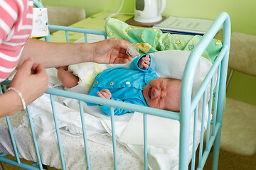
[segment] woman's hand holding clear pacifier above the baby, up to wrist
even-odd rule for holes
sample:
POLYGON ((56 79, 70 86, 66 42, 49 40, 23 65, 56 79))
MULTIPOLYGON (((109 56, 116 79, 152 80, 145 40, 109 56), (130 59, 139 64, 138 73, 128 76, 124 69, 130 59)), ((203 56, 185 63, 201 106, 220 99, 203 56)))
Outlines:
POLYGON ((127 63, 132 57, 127 55, 127 47, 130 42, 118 38, 110 38, 95 42, 93 45, 92 62, 97 63, 127 63))

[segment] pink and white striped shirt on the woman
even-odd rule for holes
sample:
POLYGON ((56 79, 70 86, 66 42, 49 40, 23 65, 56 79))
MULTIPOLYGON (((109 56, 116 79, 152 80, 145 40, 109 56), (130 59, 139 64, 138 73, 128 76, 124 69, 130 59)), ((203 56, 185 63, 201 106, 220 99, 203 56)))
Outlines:
POLYGON ((0 82, 16 68, 32 22, 33 0, 0 0, 0 82))

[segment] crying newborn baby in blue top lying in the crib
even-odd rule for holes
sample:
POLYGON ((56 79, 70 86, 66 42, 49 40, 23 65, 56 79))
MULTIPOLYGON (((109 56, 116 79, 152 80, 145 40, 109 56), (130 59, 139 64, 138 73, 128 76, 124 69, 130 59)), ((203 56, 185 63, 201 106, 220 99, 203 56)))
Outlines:
MULTIPOLYGON (((178 112, 181 80, 158 77, 150 66, 151 57, 146 54, 134 59, 130 69, 124 67, 105 69, 95 78, 89 95, 178 112)), ((68 88, 76 86, 79 80, 74 74, 66 72, 65 67, 58 68, 58 78, 68 88)), ((87 102, 87 105, 96 104, 87 102)), ((99 107, 110 115, 109 106, 99 105, 99 107)), ((134 112, 114 108, 114 115, 124 113, 134 112)))

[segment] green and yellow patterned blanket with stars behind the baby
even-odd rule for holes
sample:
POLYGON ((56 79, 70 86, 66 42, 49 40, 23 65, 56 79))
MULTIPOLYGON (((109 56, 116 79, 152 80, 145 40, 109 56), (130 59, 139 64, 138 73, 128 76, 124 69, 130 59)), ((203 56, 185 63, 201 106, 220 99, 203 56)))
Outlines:
MULTIPOLYGON (((136 43, 141 54, 164 50, 191 51, 202 38, 201 35, 162 33, 156 28, 132 28, 127 23, 114 18, 110 18, 105 23, 105 31, 110 38, 120 38, 136 43)), ((221 40, 213 39, 202 56, 210 62, 214 62, 222 47, 221 40)))

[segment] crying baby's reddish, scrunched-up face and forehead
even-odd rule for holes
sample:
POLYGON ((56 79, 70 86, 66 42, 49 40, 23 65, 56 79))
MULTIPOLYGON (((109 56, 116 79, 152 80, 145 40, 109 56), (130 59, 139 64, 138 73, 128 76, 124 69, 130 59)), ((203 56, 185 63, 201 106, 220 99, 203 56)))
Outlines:
POLYGON ((143 96, 149 107, 168 111, 179 111, 181 80, 159 78, 152 79, 143 89, 143 96))

